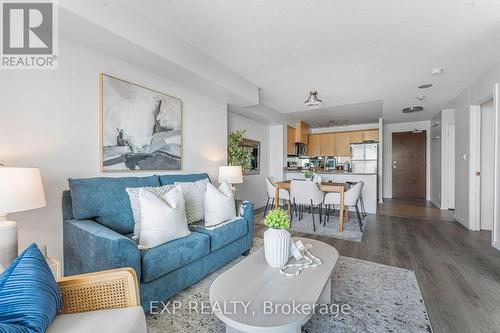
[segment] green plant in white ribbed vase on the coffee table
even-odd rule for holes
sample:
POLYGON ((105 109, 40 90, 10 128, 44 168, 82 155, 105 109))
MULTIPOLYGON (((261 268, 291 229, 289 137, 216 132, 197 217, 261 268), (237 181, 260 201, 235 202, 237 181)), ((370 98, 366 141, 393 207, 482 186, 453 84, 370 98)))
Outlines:
POLYGON ((282 208, 273 209, 264 219, 269 228, 264 232, 264 253, 269 266, 283 267, 290 254, 291 235, 286 230, 290 227, 288 213, 282 208))

